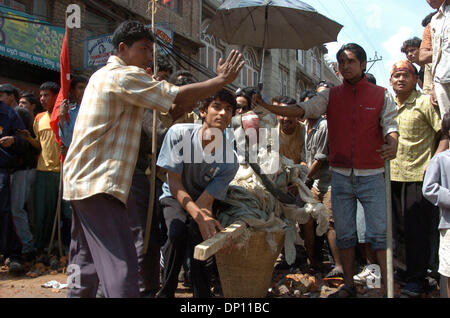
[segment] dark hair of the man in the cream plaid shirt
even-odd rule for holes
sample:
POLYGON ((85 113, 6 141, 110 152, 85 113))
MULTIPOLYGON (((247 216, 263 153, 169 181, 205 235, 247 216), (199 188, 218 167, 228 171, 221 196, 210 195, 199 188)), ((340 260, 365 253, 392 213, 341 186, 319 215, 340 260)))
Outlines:
POLYGON ((120 42, 132 46, 134 42, 148 39, 155 42, 152 31, 139 21, 127 20, 122 22, 114 31, 112 44, 115 50, 119 48, 120 42))

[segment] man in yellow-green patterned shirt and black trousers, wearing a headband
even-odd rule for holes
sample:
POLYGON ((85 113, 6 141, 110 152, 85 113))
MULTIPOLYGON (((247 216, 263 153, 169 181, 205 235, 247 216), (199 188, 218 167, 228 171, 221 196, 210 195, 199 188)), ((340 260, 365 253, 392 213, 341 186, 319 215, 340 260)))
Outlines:
MULTIPOLYGON (((396 94, 399 127, 397 157, 391 161, 392 211, 396 247, 404 241, 406 286, 402 293, 417 297, 425 291, 430 257, 430 222, 439 211, 422 195, 425 170, 441 129, 430 96, 416 90, 417 69, 410 61, 393 65, 391 85, 396 94)), ((442 135, 436 152, 448 149, 442 135)))

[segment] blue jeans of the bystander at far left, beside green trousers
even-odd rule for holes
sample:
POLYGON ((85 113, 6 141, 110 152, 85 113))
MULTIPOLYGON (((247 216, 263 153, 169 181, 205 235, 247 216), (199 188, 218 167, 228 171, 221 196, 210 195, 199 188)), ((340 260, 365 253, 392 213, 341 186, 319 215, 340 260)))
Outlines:
POLYGON ((22 241, 22 253, 30 253, 35 250, 33 235, 28 224, 28 212, 25 210, 25 203, 35 178, 35 169, 18 170, 11 176, 11 211, 17 234, 22 241))

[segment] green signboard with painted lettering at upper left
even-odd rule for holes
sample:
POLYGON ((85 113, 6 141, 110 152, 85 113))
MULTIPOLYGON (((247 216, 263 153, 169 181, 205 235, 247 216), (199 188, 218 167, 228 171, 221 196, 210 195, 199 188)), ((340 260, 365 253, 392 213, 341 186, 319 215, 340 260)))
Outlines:
POLYGON ((0 55, 59 72, 64 32, 64 28, 0 6, 0 55))

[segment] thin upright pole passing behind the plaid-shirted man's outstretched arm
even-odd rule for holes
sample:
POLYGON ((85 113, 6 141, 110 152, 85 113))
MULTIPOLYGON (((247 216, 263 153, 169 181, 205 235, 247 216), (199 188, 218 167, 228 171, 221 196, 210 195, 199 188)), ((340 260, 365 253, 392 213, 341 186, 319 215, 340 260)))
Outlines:
MULTIPOLYGON (((155 14, 156 14, 156 1, 152 0, 152 32, 155 35, 155 41, 153 42, 153 76, 158 73, 158 62, 156 60, 158 55, 157 38, 155 34, 155 14)), ((152 226, 152 218, 155 205, 155 188, 156 188, 156 109, 153 109, 153 127, 152 127, 152 161, 151 161, 151 175, 150 175, 150 197, 147 210, 147 223, 145 225, 144 236, 144 254, 147 253, 148 244, 150 241, 150 232, 152 226)))

